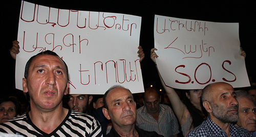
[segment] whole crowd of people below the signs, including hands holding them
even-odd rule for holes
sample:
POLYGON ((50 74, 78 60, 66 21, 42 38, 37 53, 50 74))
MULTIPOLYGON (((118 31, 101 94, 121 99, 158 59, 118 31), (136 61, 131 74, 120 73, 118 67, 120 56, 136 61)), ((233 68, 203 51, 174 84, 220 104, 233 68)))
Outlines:
MULTIPOLYGON (((13 41, 11 56, 19 53, 13 41)), ((138 57, 145 57, 141 46, 138 57)), ((156 48, 151 59, 156 63, 156 48)), ((241 52, 245 57, 245 52, 241 52)), ((157 67, 157 65, 156 65, 157 67)), ((23 136, 255 136, 256 89, 234 90, 224 82, 204 89, 165 93, 154 87, 132 94, 116 85, 104 95, 68 94, 68 66, 47 50, 26 64, 23 92, 29 107, 15 97, 0 100, 0 132, 23 136)))

